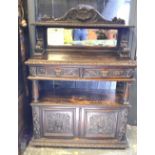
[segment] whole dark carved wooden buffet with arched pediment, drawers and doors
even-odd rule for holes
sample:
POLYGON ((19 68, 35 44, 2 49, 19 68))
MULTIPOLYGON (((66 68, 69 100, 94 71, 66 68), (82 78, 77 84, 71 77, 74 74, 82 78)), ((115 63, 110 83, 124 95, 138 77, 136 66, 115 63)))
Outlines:
POLYGON ((126 148, 129 85, 136 62, 130 58, 132 26, 103 19, 87 5, 70 9, 61 18, 40 18, 36 49, 25 64, 32 81, 34 146, 126 148), (118 31, 117 46, 79 47, 47 45, 48 28, 99 28, 118 31), (48 81, 115 81, 116 90, 55 88, 48 81), (45 89, 43 89, 44 87, 45 89), (48 89, 46 89, 48 87, 48 89))

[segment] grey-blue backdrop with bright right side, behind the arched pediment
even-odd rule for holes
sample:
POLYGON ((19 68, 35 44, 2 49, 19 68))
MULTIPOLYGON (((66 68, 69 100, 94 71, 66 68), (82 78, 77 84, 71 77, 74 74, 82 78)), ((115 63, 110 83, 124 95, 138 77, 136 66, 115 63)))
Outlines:
POLYGON ((133 0, 36 0, 37 19, 59 18, 69 9, 77 5, 90 5, 94 7, 106 20, 114 17, 124 19, 128 24, 130 6, 133 0))

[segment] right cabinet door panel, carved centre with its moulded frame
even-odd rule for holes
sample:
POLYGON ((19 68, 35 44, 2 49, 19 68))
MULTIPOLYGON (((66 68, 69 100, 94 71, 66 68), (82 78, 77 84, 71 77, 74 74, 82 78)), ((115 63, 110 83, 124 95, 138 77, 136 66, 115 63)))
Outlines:
POLYGON ((85 138, 115 138, 118 110, 84 108, 81 117, 81 136, 85 138))

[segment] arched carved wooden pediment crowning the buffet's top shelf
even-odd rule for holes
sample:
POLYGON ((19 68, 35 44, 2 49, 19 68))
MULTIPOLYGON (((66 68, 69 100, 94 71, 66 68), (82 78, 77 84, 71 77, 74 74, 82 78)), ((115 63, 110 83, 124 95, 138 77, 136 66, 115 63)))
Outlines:
POLYGON ((55 22, 71 22, 71 23, 103 23, 103 24, 125 24, 122 19, 116 17, 112 20, 106 20, 103 16, 89 5, 78 5, 71 8, 64 16, 60 18, 42 17, 44 21, 55 22))

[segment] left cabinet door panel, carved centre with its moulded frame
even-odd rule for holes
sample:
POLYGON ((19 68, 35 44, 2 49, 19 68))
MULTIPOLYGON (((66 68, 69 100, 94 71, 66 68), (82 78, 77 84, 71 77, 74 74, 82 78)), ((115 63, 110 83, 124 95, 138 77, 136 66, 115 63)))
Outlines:
POLYGON ((76 108, 43 108, 43 136, 56 138, 75 137, 78 132, 78 119, 76 118, 76 113, 76 108))

